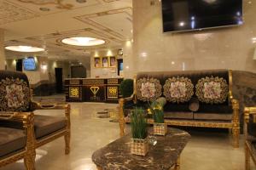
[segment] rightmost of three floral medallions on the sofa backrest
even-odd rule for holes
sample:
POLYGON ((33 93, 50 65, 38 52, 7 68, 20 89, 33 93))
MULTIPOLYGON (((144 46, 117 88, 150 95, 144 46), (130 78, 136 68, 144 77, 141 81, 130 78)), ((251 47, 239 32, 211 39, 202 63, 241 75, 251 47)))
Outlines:
POLYGON ((201 78, 195 88, 198 99, 209 104, 224 103, 229 91, 226 80, 219 77, 201 78))

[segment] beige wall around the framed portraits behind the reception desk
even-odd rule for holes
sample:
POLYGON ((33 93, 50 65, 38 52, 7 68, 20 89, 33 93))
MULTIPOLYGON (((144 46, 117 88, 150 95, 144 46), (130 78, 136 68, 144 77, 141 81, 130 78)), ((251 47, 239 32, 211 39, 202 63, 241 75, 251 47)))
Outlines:
POLYGON ((99 51, 99 52, 91 53, 90 77, 101 77, 101 78, 118 77, 117 67, 95 68, 95 65, 94 65, 95 56, 98 56, 98 57, 118 56, 117 52, 118 50, 99 51))

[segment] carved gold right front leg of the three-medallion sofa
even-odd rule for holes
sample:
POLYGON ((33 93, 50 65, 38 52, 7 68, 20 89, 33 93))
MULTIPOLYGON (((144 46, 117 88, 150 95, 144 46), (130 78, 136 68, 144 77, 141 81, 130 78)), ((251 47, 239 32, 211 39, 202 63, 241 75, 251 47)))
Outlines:
POLYGON ((239 103, 238 100, 232 99, 232 107, 233 107, 233 127, 232 127, 232 134, 233 134, 233 147, 239 147, 239 136, 240 136, 240 122, 239 122, 239 103))

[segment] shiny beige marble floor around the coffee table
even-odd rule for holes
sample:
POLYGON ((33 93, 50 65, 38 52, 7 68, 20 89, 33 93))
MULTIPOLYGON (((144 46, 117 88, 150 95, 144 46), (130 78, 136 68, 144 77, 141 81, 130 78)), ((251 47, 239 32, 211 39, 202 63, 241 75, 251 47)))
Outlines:
MULTIPOLYGON (((45 144, 37 150, 37 170, 96 170, 90 157, 97 150, 119 138, 119 124, 109 118, 98 118, 97 111, 115 109, 115 104, 72 103, 71 153, 64 154, 64 139, 45 144)), ((63 116, 61 111, 36 111, 36 114, 63 116)), ((129 127, 128 127, 129 129, 129 127)), ((233 149, 228 133, 200 132, 189 129, 192 138, 183 150, 182 170, 242 170, 243 140, 233 149)), ((255 167, 254 167, 255 168, 255 167)), ((24 170, 22 161, 1 170, 24 170)), ((139 169, 138 169, 139 170, 139 169)))

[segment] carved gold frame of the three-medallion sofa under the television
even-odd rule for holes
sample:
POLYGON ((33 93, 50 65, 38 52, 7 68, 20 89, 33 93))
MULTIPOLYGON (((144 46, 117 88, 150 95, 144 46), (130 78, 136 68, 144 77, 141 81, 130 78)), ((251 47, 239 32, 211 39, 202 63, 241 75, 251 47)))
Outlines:
MULTIPOLYGON (((127 101, 132 101, 137 103, 137 91, 136 91, 137 77, 134 78, 134 91, 131 97, 119 99, 119 128, 120 136, 125 135, 125 122, 130 122, 129 119, 125 119, 124 115, 124 105, 127 101)), ((240 135, 240 122, 239 122, 239 102, 234 99, 232 95, 232 71, 229 71, 229 100, 230 105, 232 105, 233 116, 230 122, 203 122, 203 121, 188 121, 188 120, 165 120, 167 125, 172 126, 183 126, 183 127, 218 127, 218 128, 228 128, 232 132, 233 147, 239 147, 239 135, 240 135)), ((154 121, 148 119, 148 123, 152 124, 154 121)))

